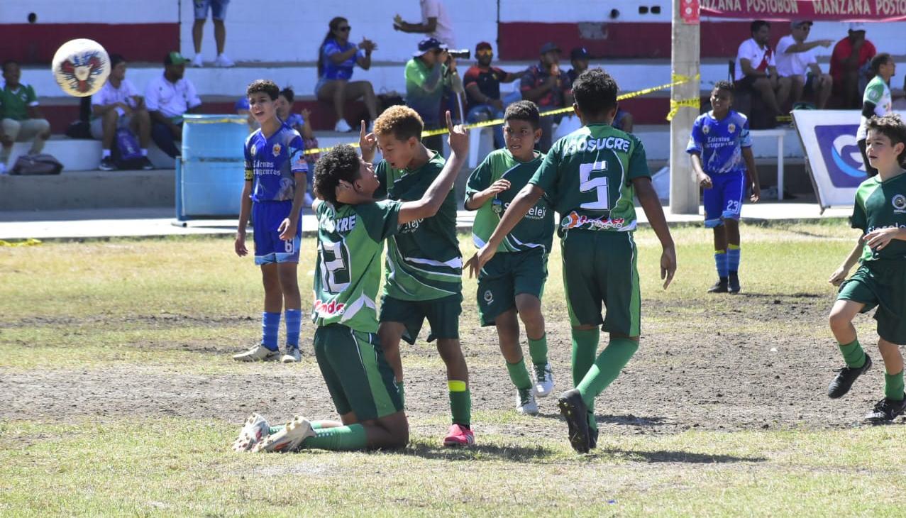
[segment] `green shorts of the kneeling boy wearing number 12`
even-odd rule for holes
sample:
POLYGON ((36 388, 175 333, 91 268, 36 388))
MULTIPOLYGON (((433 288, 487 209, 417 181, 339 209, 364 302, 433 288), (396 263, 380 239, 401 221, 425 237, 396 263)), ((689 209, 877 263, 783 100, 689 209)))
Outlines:
POLYGON ((355 412, 361 422, 402 410, 400 391, 378 335, 342 324, 318 327, 314 357, 341 416, 355 412))

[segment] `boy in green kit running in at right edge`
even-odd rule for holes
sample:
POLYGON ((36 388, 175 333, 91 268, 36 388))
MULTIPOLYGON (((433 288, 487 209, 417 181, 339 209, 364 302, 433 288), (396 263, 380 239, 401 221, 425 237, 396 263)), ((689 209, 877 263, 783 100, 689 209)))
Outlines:
POLYGON ((853 381, 871 369, 872 359, 856 337, 853 318, 877 306, 874 320, 884 359, 884 398, 865 418, 889 422, 906 409, 898 347, 906 344, 906 170, 902 168, 906 125, 898 115, 885 115, 872 117, 866 127, 865 155, 878 174, 856 190, 851 224, 863 233, 830 278, 830 283, 840 286, 840 293, 829 320, 846 366, 831 381, 827 395, 843 397, 853 381), (857 260, 859 268, 843 281, 857 260))

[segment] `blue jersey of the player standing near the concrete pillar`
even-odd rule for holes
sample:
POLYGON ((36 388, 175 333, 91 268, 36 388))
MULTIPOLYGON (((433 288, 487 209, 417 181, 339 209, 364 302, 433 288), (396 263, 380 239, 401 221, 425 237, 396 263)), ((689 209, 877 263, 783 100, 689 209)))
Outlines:
POLYGON ((746 172, 742 149, 752 147, 748 134, 748 119, 742 113, 729 110, 723 120, 714 118, 713 111, 699 115, 692 124, 692 134, 686 152, 701 156, 701 168, 708 175, 746 172))

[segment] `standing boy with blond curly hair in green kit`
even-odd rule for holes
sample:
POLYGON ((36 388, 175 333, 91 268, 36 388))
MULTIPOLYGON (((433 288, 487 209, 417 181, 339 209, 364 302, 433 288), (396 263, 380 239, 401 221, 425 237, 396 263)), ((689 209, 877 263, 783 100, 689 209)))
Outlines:
MULTIPOLYGON (((444 168, 439 152, 421 143, 424 124, 406 106, 392 106, 374 121, 374 132, 361 125, 361 158, 371 161, 377 146, 383 160, 375 168, 381 187, 376 197, 413 201, 422 197, 444 168)), ((471 430, 472 397, 468 368, 459 346, 462 306, 462 256, 456 235, 456 193, 450 189, 436 216, 410 221, 387 241, 386 282, 381 295, 378 335, 387 361, 403 393, 400 339, 414 344, 427 319, 428 341, 438 340, 447 366, 452 425, 445 446, 475 443, 471 430)))

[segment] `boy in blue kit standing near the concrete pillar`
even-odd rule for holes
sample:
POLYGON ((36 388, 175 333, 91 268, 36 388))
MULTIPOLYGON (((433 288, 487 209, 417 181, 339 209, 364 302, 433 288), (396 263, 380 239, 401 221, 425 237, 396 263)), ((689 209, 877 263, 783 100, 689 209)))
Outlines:
POLYGON ((711 91, 711 110, 695 120, 686 147, 699 185, 705 188, 705 226, 714 229, 718 282, 708 293, 739 293, 739 213, 747 183, 752 187, 750 199, 757 202, 761 197, 748 119, 730 110, 732 105, 733 86, 718 81, 711 91))

